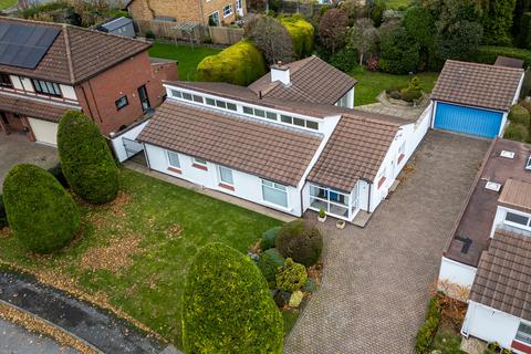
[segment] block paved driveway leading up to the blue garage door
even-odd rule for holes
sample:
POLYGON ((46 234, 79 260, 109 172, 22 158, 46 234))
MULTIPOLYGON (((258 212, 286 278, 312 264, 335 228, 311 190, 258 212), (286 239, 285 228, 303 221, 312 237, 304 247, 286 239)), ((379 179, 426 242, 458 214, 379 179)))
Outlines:
POLYGON ((489 144, 429 132, 410 159, 415 171, 365 229, 326 220, 323 282, 285 353, 412 353, 441 250, 489 144))

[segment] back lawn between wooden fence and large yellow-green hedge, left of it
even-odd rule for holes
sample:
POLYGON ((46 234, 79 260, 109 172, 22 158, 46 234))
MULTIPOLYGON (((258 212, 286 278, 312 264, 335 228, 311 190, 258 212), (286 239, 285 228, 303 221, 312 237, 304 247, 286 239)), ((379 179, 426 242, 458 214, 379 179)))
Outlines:
MULTIPOLYGON (((0 0, 2 1, 2 0, 0 0)), ((175 45, 167 43, 154 43, 149 55, 178 61, 179 80, 194 81, 196 67, 208 55, 219 53, 221 50, 207 46, 175 45)))

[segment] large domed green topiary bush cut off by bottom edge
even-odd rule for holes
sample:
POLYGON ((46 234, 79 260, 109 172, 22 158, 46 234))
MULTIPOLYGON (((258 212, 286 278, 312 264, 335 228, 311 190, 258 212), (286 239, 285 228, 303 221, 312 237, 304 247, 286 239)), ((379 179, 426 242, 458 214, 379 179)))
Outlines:
POLYGON ((183 296, 185 353, 282 353, 282 316, 244 254, 209 243, 196 254, 183 296))

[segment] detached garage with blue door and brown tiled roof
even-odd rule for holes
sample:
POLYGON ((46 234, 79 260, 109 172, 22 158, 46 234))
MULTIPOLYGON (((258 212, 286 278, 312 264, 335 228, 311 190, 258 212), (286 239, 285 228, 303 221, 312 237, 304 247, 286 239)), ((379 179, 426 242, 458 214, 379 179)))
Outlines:
POLYGON ((501 136, 522 82, 522 69, 448 60, 431 93, 431 127, 482 138, 501 136))

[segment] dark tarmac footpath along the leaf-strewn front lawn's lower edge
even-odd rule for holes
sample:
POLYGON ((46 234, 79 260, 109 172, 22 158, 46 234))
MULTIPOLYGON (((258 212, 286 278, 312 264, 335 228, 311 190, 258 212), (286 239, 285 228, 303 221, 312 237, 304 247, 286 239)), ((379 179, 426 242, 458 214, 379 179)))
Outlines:
POLYGON ((104 353, 159 353, 163 345, 102 309, 0 270, 0 299, 48 320, 104 353))

